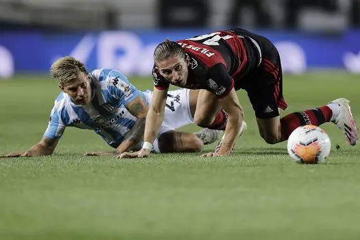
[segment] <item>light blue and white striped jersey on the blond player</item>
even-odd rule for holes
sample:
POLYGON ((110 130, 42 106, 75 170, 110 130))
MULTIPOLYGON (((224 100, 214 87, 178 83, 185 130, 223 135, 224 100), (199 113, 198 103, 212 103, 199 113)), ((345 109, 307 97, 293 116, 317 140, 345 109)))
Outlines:
POLYGON ((94 130, 108 145, 117 147, 136 121, 125 105, 145 95, 125 75, 112 69, 95 69, 89 73, 92 82, 91 102, 75 105, 67 93, 60 93, 51 110, 44 134, 59 139, 67 126, 94 130))

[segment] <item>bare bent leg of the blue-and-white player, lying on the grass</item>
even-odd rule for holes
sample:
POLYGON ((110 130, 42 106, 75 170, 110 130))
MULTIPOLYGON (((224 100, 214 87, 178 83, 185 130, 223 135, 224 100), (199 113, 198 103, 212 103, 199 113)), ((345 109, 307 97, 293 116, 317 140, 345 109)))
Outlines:
POLYGON ((202 141, 189 132, 168 131, 158 136, 160 153, 197 152, 202 149, 202 141))

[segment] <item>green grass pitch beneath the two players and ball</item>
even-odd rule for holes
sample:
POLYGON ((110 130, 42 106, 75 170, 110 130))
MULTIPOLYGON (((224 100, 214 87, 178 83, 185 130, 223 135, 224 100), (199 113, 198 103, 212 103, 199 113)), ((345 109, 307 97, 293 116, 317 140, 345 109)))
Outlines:
MULTIPOLYGON (((346 97, 360 119, 359 75, 285 75, 284 88, 283 114, 346 97)), ((44 76, 0 81, 0 154, 39 141, 59 91, 44 76)), ((244 92, 239 99, 248 131, 229 157, 86 157, 110 147, 68 128, 53 156, 0 158, 0 239, 359 239, 359 147, 327 123, 328 162, 292 163, 285 143, 261 139, 244 92)))

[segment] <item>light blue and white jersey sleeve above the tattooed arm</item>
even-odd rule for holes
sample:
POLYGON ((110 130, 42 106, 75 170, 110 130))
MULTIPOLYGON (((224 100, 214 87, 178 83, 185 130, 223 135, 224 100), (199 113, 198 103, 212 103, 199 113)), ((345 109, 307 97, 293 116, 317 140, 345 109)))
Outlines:
MULTIPOLYGON (((104 71, 106 71, 106 69, 104 69, 104 71)), ((123 73, 117 70, 109 71, 106 76, 106 81, 108 91, 112 97, 119 99, 124 105, 136 97, 141 96, 141 92, 130 83, 128 77, 125 77, 123 73)))

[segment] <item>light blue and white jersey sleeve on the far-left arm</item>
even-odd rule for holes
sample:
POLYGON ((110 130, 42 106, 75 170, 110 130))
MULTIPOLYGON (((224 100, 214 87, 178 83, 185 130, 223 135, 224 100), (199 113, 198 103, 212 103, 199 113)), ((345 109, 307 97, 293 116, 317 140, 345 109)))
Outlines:
POLYGON ((51 110, 49 123, 47 125, 44 136, 47 139, 60 139, 60 137, 64 133, 65 127, 66 125, 61 119, 60 112, 58 112, 57 107, 54 106, 51 110))

